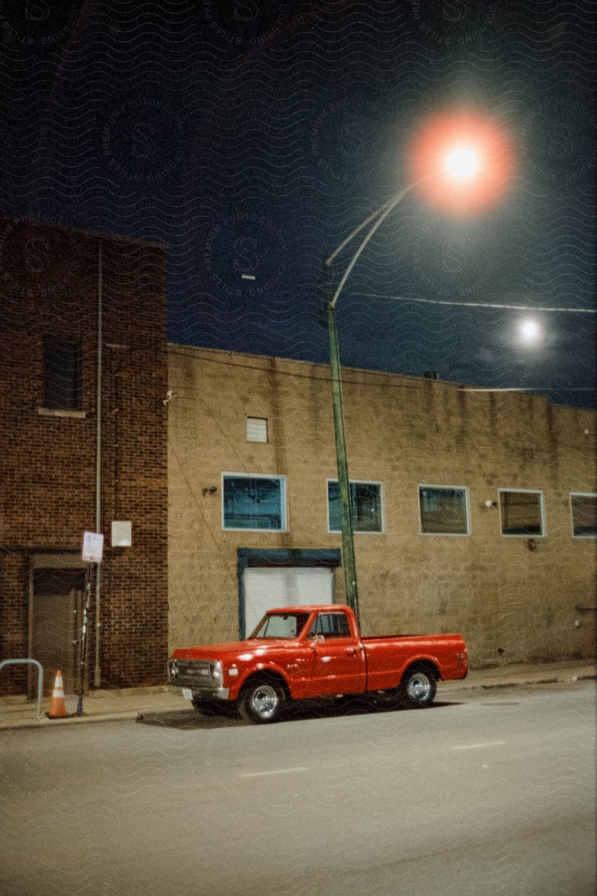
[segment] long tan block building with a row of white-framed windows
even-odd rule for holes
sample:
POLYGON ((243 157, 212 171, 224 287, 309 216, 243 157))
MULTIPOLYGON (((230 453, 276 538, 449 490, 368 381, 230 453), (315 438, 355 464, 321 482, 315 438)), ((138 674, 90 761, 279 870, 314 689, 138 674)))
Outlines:
MULTIPOLYGON (((328 366, 171 345, 168 371, 170 649, 342 602, 328 366)), ((594 412, 343 377, 363 633, 459 631, 474 666, 591 656, 594 412)))

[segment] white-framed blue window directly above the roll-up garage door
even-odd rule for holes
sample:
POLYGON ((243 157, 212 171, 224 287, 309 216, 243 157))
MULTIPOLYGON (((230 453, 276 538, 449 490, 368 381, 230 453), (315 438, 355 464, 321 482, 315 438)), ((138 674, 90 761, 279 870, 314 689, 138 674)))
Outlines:
POLYGON ((286 476, 222 474, 224 529, 286 531, 286 476))

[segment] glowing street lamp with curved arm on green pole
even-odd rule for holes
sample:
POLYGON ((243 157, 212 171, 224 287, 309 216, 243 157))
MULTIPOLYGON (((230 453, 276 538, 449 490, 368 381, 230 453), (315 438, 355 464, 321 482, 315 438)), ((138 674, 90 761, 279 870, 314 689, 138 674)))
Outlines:
POLYGON ((338 493, 342 520, 342 565, 346 603, 359 620, 359 594, 354 558, 354 505, 348 477, 342 377, 338 349, 336 304, 362 250, 380 224, 405 195, 422 186, 422 194, 434 205, 451 214, 482 211, 504 192, 512 177, 513 155, 507 136, 499 124, 470 111, 442 113, 423 122, 414 140, 414 181, 384 202, 343 240, 324 260, 323 293, 328 313, 329 365, 336 436, 338 493), (472 190, 471 187, 474 187, 472 190), (331 265, 338 254, 362 230, 365 237, 345 269, 336 291, 331 265))

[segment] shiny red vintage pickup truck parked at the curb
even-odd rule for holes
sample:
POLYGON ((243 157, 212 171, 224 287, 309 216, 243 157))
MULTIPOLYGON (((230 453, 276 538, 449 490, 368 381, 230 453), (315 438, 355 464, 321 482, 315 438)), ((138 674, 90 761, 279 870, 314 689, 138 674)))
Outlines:
POLYGON ((379 706, 429 706, 436 685, 464 678, 459 634, 362 637, 338 604, 269 610, 246 641, 175 650, 168 682, 212 713, 235 702, 243 719, 273 722, 293 700, 371 694, 379 706))

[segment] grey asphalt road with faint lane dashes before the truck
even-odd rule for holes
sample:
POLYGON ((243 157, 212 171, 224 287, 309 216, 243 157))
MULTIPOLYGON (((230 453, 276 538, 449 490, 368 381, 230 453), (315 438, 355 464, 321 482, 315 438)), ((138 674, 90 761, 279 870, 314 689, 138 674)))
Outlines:
POLYGON ((595 687, 0 732, 3 896, 593 896, 595 687))

